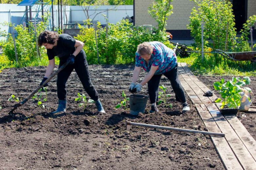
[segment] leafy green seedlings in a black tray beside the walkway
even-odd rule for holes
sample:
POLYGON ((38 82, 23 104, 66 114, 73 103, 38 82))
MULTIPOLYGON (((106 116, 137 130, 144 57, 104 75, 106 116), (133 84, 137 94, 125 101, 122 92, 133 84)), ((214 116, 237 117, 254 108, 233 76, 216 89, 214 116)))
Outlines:
MULTIPOLYGON (((232 77, 232 80, 225 82, 224 78, 221 81, 213 83, 214 89, 219 91, 221 98, 215 100, 216 103, 222 101, 220 105, 220 112, 222 114, 236 114, 241 105, 241 93, 244 90, 251 92, 251 89, 244 87, 250 83, 249 77, 232 77)), ((248 96, 248 101, 251 101, 248 96)))

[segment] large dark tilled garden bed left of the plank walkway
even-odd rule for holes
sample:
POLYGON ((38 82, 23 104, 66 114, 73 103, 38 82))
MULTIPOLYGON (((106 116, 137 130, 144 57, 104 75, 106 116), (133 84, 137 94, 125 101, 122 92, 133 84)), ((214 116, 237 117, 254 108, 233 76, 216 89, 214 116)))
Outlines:
MULTIPOLYGON (((145 127, 126 131, 127 119, 206 130, 189 99, 191 111, 181 113, 181 105, 174 100, 170 83, 164 76, 161 84, 172 95, 168 103, 172 103, 173 108, 160 105, 159 113, 149 113, 148 101, 145 113, 135 117, 124 108, 114 109, 122 99, 122 91, 129 96, 133 66, 90 65, 89 69, 106 114, 99 114, 94 104, 87 104, 84 111, 78 108, 77 93, 86 92, 73 72, 67 83, 66 114, 48 114, 57 107, 54 77, 49 83, 47 101, 43 102, 45 109, 30 99, 15 110, 12 117, 8 112, 17 102, 7 101, 8 98, 13 94, 25 99, 41 82, 46 67, 2 71, 0 169, 224 169, 209 136, 145 127)), ((147 94, 146 90, 146 86, 143 87, 142 93, 147 94)), ((249 114, 246 115, 243 123, 249 119, 249 114)))

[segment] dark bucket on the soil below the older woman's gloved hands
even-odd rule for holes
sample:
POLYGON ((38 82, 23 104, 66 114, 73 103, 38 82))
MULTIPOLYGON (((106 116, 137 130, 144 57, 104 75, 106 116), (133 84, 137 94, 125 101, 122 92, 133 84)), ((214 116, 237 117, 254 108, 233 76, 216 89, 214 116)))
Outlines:
POLYGON ((138 115, 139 112, 144 113, 148 96, 140 94, 130 95, 130 114, 138 115))

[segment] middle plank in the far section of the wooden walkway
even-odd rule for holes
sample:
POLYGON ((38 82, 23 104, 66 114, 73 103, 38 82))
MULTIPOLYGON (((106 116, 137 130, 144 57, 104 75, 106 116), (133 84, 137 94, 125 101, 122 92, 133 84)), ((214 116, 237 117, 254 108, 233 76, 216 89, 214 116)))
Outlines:
POLYGON ((183 79, 187 82, 187 84, 191 87, 191 89, 196 93, 196 95, 199 97, 199 99, 203 103, 211 103, 212 101, 208 98, 203 96, 204 92, 190 79, 190 77, 187 75, 185 70, 182 68, 180 63, 178 64, 178 70, 183 79))

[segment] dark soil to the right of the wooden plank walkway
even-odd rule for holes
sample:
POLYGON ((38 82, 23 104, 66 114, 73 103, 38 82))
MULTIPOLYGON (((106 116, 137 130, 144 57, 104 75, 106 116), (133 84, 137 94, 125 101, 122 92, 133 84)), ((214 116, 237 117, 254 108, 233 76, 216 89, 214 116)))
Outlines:
MULTIPOLYGON (((232 76, 198 76, 198 79, 202 81, 209 89, 214 90, 213 83, 220 81, 222 78, 225 80, 232 80, 232 76)), ((252 92, 256 93, 256 77, 250 77, 251 82, 245 87, 251 88, 252 92)), ((214 92, 218 97, 221 97, 218 92, 214 92)), ((251 106, 256 106, 256 100, 254 99, 251 106)), ((256 140, 256 113, 248 113, 245 111, 238 111, 237 117, 246 127, 251 136, 256 140), (242 115, 246 117, 243 117, 242 115)))

